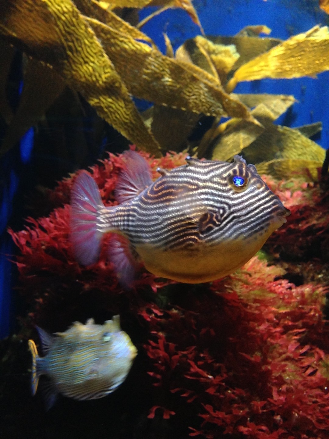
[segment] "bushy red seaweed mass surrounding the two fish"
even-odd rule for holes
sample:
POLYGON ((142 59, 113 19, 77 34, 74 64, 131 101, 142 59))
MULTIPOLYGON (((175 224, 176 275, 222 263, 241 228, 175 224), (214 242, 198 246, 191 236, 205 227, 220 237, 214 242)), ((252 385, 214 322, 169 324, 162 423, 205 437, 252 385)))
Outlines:
MULTIPOLYGON (((185 162, 183 154, 143 155, 154 178, 157 166, 185 162)), ((122 166, 121 156, 110 155, 92 168, 106 205, 116 203, 122 166)), ((104 436, 105 428, 112 438, 327 438, 329 331, 321 270, 329 199, 318 185, 266 177, 291 216, 259 257, 231 276, 186 285, 141 267, 134 288, 124 291, 106 261, 111 234, 95 265, 81 267, 72 258, 67 203, 74 178, 47 194, 47 207, 54 208, 49 216, 29 219, 24 230, 10 233, 21 251, 16 264, 29 308, 29 316, 21 317, 22 334, 32 323, 60 331, 73 320, 120 314, 139 351, 120 394, 102 402, 105 413, 106 404, 118 406, 118 413, 102 418, 105 427, 93 425, 93 436, 98 429, 104 436), (298 286, 289 279, 297 272, 298 286)), ((103 413, 97 407, 83 417, 103 413)))

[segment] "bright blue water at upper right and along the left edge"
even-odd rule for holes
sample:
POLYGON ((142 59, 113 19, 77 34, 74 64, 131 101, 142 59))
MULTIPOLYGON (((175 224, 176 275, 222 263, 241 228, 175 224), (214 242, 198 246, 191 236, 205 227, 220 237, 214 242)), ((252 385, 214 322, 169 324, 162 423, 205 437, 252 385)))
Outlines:
MULTIPOLYGON (((286 39, 291 35, 305 32, 320 24, 326 25, 327 15, 318 9, 317 0, 195 0, 200 22, 206 35, 232 36, 247 25, 267 25, 272 29, 271 36, 286 39)), ((155 8, 145 8, 140 13, 144 18, 155 8)), ((186 39, 200 35, 185 11, 180 9, 166 11, 154 17, 143 27, 164 52, 163 32, 166 32, 177 49, 186 39)), ((329 136, 329 72, 321 73, 318 79, 301 78, 290 80, 261 80, 240 83, 236 93, 293 94, 298 103, 293 105, 287 115, 281 116, 277 123, 287 126, 301 126, 321 121, 323 130, 317 138, 323 148, 328 148, 329 136)), ((18 98, 19 98, 18 90, 18 98)), ((4 133, 0 132, 0 136, 4 133)), ((16 281, 15 269, 10 262, 14 245, 7 234, 6 227, 13 212, 14 197, 23 197, 26 188, 22 187, 24 175, 31 169, 33 148, 33 129, 21 139, 17 148, 0 159, 0 338, 6 337, 14 326, 13 284, 16 281)))

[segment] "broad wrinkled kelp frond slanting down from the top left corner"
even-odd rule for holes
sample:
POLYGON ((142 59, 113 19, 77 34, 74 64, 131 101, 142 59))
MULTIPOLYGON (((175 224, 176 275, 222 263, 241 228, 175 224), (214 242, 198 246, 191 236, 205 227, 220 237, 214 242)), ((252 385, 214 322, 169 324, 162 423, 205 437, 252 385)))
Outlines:
POLYGON ((0 32, 49 62, 98 114, 144 150, 159 146, 86 19, 70 0, 4 0, 0 32))

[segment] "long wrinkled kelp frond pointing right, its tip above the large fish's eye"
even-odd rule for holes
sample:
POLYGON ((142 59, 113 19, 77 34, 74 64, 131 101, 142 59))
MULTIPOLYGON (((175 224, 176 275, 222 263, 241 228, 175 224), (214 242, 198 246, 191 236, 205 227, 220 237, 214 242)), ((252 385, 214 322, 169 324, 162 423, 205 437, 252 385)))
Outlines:
POLYGON ((97 20, 87 18, 87 22, 134 96, 198 114, 222 115, 225 111, 230 116, 253 120, 247 107, 225 93, 204 70, 168 58, 97 20))

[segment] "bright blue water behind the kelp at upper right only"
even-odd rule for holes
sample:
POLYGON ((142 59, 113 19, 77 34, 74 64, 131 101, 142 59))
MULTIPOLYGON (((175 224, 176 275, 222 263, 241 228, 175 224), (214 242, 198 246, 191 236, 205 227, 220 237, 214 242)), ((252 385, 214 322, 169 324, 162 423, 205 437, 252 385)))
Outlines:
MULTIPOLYGON (((195 0, 200 22, 206 35, 232 36, 247 25, 266 25, 272 32, 269 36, 286 40, 292 35, 306 32, 315 25, 328 25, 329 18, 318 7, 318 0, 195 0)), ((144 18, 155 8, 145 8, 144 18)), ((161 51, 165 50, 162 32, 168 34, 175 49, 186 39, 200 35, 186 12, 176 9, 165 11, 154 17, 143 27, 161 51)), ((318 79, 263 79, 238 84, 235 93, 293 94, 297 103, 287 115, 276 123, 296 127, 321 121, 321 138, 317 141, 325 149, 329 146, 329 72, 318 75, 318 79)))

